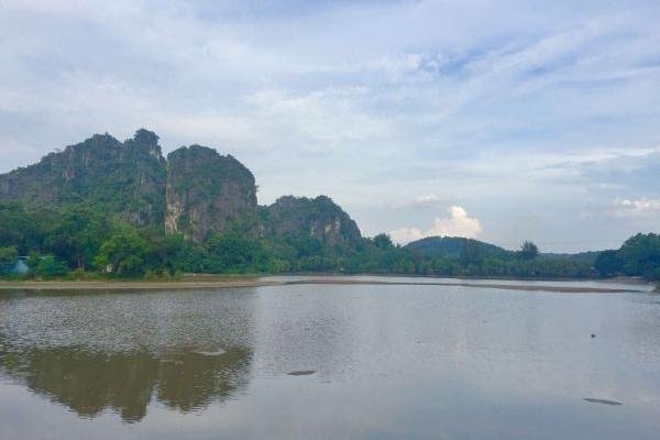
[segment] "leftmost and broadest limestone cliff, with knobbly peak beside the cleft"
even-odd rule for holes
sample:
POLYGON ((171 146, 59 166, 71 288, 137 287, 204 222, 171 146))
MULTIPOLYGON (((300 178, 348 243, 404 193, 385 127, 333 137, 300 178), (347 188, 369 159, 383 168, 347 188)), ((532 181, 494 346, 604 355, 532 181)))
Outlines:
POLYGON ((146 130, 125 142, 95 134, 35 165, 0 175, 2 200, 30 208, 89 204, 136 226, 162 223, 164 189, 158 136, 146 130))

